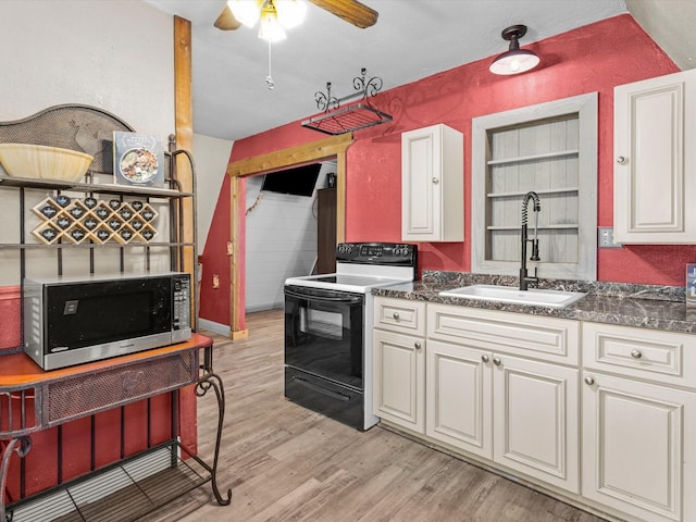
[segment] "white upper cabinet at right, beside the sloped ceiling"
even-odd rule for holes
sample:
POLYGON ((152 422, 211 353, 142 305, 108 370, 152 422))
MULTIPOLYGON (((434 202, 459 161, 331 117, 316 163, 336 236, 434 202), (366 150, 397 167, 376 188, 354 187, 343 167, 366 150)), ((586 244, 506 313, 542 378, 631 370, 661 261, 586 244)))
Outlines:
POLYGON ((614 240, 696 243, 696 70, 614 88, 614 240))

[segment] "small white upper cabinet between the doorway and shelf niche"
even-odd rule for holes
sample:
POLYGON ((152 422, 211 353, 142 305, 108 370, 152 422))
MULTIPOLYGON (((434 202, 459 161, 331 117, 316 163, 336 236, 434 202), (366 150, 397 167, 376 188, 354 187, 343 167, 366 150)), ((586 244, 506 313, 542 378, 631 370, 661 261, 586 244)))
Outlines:
POLYGON ((464 140, 438 124, 401 135, 401 239, 464 240, 464 140))

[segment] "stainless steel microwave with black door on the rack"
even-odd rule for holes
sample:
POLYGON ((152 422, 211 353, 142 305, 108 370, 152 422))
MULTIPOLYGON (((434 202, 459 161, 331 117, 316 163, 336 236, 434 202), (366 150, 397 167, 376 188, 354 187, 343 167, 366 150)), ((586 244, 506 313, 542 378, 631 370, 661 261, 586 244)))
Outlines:
POLYGON ((24 351, 55 370, 188 340, 189 274, 24 279, 24 351))

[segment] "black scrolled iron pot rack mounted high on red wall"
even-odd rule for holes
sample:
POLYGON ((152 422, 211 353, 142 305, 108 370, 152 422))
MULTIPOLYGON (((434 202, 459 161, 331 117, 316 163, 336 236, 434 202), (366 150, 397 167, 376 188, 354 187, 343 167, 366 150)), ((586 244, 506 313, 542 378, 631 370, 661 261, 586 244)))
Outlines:
POLYGON ((390 114, 375 109, 370 103, 370 98, 382 90, 382 78, 373 76, 366 79, 365 73, 366 70, 363 67, 360 70, 360 76, 352 79, 356 91, 351 95, 343 98, 332 96, 331 82, 326 83, 326 92, 321 90, 314 92, 316 108, 324 113, 304 120, 302 126, 336 136, 390 122, 393 120, 390 114), (358 98, 362 98, 362 100, 358 103, 340 107, 343 102, 358 98))

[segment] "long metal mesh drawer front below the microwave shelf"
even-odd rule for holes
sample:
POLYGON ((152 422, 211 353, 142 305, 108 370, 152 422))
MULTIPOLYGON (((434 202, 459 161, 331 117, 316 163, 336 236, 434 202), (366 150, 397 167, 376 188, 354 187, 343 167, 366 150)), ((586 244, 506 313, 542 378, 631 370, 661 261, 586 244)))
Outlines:
POLYGON ((44 386, 44 425, 61 424, 197 382, 198 350, 119 365, 44 386))

